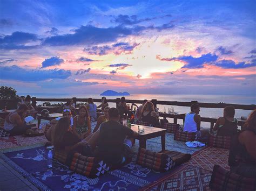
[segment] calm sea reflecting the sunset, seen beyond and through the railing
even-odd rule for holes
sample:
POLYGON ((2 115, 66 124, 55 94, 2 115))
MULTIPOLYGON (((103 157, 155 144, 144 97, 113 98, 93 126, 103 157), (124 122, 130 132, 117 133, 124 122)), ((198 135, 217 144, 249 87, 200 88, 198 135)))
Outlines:
MULTIPOLYGON (((19 96, 26 96, 30 95, 31 97, 37 98, 101 98, 100 95, 90 95, 90 94, 24 94, 18 93, 19 96)), ((116 99, 117 97, 121 96, 105 96, 107 99, 116 99)), ((241 96, 241 95, 166 95, 166 94, 132 94, 130 96, 125 96, 127 100, 152 100, 156 99, 158 101, 179 101, 179 102, 191 102, 191 101, 198 101, 202 103, 233 103, 233 104, 256 104, 256 97, 255 96, 241 96)), ((51 102, 58 103, 58 102, 51 102)), ((43 104, 43 102, 37 102, 37 105, 43 104)), ((95 102, 96 105, 100 103, 95 102)), ((110 107, 116 107, 116 103, 109 103, 110 107)), ((139 105, 139 104, 137 104, 139 105)), ((157 105, 159 111, 168 112, 168 109, 173 107, 174 112, 178 112, 178 114, 185 114, 190 111, 190 107, 181 107, 176 105, 157 105)), ((235 109, 235 117, 248 117, 252 111, 251 110, 241 110, 235 109)), ((219 108, 200 108, 201 117, 222 117, 223 116, 223 109, 219 108)), ((172 119, 169 119, 172 122, 172 119)), ((178 123, 182 123, 178 121, 178 123)), ((210 127, 210 123, 202 122, 201 126, 210 127)))

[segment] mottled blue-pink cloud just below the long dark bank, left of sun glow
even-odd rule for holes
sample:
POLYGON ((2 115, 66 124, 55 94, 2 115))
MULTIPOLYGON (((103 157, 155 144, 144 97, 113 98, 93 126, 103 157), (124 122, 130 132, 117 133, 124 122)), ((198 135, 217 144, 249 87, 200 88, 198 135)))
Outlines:
POLYGON ((111 52, 113 52, 116 55, 119 55, 122 53, 129 54, 138 45, 139 44, 137 43, 133 43, 133 45, 130 45, 129 43, 120 42, 113 45, 93 46, 93 47, 84 48, 84 52, 87 52, 88 54, 93 54, 93 55, 106 55, 111 52))

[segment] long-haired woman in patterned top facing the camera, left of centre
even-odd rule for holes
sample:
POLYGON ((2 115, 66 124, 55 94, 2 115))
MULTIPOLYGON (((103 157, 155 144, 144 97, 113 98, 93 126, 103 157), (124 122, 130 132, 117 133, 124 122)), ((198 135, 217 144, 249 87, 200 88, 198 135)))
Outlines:
POLYGON ((84 105, 79 108, 79 114, 74 117, 73 132, 81 140, 91 134, 91 121, 84 105))

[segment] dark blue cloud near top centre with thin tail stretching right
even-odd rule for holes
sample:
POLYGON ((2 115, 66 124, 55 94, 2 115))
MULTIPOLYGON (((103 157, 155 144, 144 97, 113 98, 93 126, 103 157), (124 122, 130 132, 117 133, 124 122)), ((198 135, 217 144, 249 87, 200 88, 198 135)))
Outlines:
POLYGON ((111 22, 115 22, 121 25, 134 25, 138 23, 142 23, 145 21, 153 20, 153 19, 158 19, 158 18, 164 18, 164 17, 171 17, 171 15, 165 15, 161 17, 153 17, 153 18, 144 18, 144 19, 138 19, 136 15, 128 16, 128 15, 118 15, 118 16, 113 16, 114 19, 111 20, 111 22))

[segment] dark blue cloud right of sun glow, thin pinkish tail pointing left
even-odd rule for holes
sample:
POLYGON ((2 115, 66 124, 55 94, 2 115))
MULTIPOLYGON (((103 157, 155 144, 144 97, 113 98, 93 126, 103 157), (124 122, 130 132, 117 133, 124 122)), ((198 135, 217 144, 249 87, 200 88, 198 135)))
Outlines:
POLYGON ((162 61, 182 61, 185 62, 185 65, 181 68, 203 68, 204 63, 213 62, 218 59, 218 56, 215 54, 203 54, 198 58, 193 56, 179 56, 177 58, 160 58, 160 55, 157 55, 158 60, 162 61))

